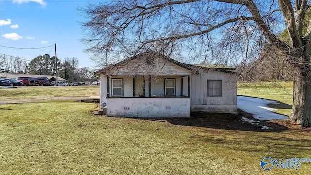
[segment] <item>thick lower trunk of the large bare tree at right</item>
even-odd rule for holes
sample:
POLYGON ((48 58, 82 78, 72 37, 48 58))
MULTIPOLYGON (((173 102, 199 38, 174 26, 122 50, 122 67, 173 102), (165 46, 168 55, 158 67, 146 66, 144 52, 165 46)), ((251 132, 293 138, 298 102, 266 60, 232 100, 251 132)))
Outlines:
POLYGON ((311 65, 300 65, 293 75, 293 106, 289 119, 304 127, 311 127, 311 65))

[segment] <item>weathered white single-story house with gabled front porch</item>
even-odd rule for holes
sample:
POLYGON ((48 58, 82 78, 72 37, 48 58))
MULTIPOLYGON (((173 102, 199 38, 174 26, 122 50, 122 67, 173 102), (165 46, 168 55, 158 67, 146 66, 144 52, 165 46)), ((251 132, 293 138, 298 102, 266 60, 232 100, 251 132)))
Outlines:
POLYGON ((233 68, 178 62, 149 51, 94 73, 107 116, 190 117, 190 111, 236 113, 233 68))

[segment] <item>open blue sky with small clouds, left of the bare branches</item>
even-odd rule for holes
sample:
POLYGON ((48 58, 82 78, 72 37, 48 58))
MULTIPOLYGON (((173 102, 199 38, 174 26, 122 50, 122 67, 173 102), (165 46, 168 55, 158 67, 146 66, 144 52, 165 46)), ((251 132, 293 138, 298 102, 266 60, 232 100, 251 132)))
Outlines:
MULTIPOLYGON (((79 42, 83 31, 78 6, 97 3, 96 0, 0 0, 0 45, 15 48, 41 48, 56 43, 57 58, 76 57, 78 67, 94 68, 85 45, 79 42)), ((12 49, 0 47, 0 53, 32 60, 50 54, 55 49, 12 49)))

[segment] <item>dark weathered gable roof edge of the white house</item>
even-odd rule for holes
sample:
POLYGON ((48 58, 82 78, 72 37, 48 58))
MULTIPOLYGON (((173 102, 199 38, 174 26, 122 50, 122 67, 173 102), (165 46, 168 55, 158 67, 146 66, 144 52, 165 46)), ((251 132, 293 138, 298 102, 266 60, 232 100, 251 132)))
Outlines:
POLYGON ((166 61, 169 61, 175 65, 178 65, 182 68, 185 68, 187 70, 190 70, 192 73, 198 74, 199 70, 216 70, 216 71, 221 71, 221 72, 226 72, 226 73, 235 73, 234 70, 235 68, 232 67, 211 67, 211 64, 199 64, 199 65, 192 65, 192 64, 187 64, 187 63, 181 63, 179 61, 176 61, 168 56, 165 56, 163 54, 157 53, 155 51, 149 50, 147 52, 144 53, 140 53, 138 55, 135 55, 133 57, 127 58, 121 62, 115 63, 115 64, 111 64, 101 70, 95 71, 94 75, 98 76, 101 73, 106 73, 107 70, 111 70, 113 68, 121 68, 122 66, 126 65, 129 61, 135 60, 135 59, 139 59, 141 57, 144 56, 148 56, 148 55, 152 55, 152 56, 157 56, 160 57, 166 61), (208 66, 209 65, 209 66, 208 66))

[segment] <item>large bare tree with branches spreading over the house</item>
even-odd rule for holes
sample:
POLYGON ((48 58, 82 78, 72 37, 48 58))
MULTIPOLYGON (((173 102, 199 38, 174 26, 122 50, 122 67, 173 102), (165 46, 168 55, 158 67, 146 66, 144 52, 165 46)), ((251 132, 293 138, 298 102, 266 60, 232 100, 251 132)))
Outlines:
POLYGON ((309 4, 309 0, 114 0, 78 10, 88 19, 82 23, 85 51, 102 65, 149 49, 166 56, 179 53, 187 63, 247 64, 259 58, 264 45, 273 45, 294 77, 289 118, 311 126, 311 22, 305 18, 309 4), (289 43, 277 37, 284 27, 289 43), (107 60, 108 53, 118 59, 107 60))

